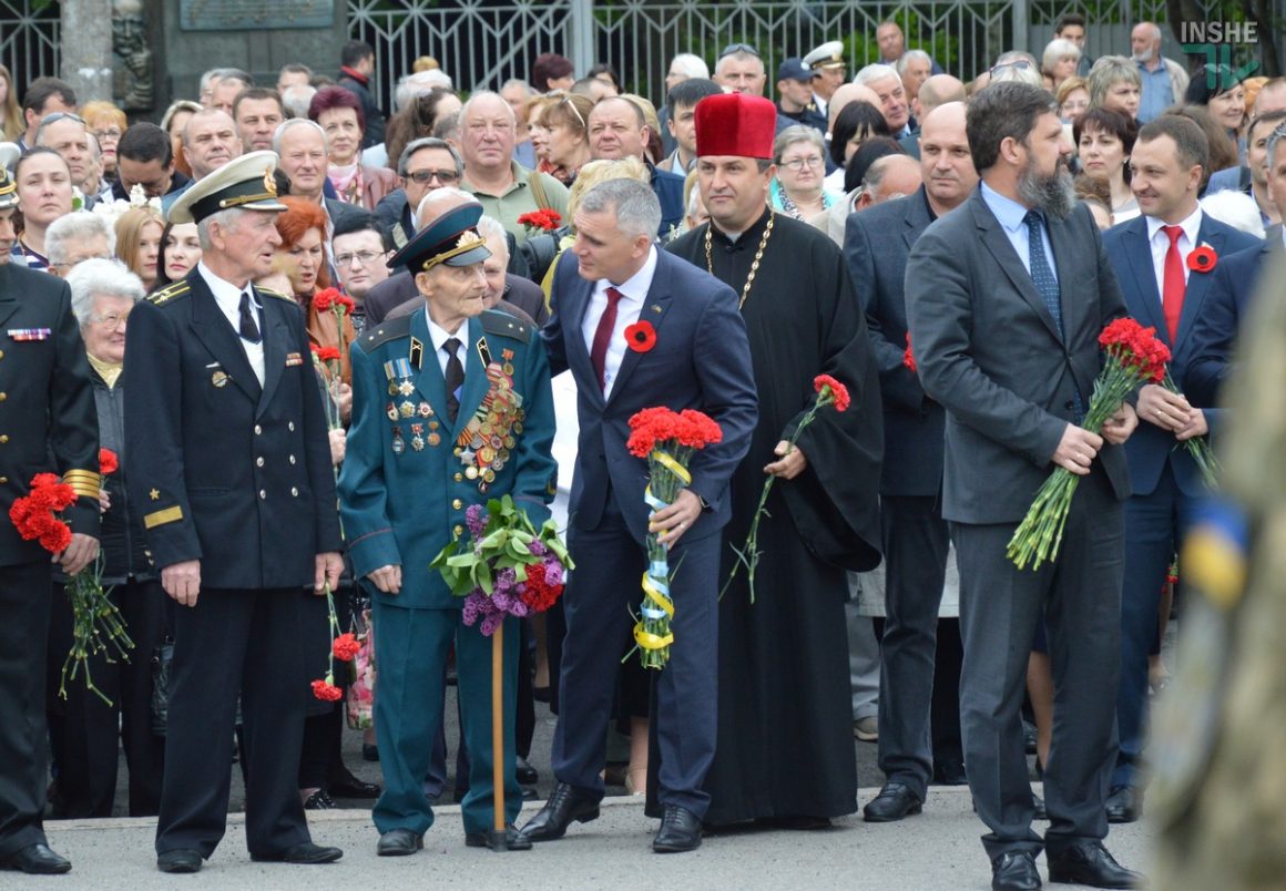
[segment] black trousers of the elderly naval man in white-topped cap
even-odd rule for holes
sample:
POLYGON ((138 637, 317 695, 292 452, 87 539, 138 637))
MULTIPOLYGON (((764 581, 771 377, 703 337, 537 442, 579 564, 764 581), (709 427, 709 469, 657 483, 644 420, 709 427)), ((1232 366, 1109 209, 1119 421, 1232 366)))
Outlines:
POLYGON ((301 589, 202 589, 179 607, 157 852, 210 858, 228 823, 230 750, 240 693, 246 841, 271 856, 310 840, 297 777, 310 678, 327 653, 306 653, 301 589), (311 671, 311 674, 310 674, 311 671))

